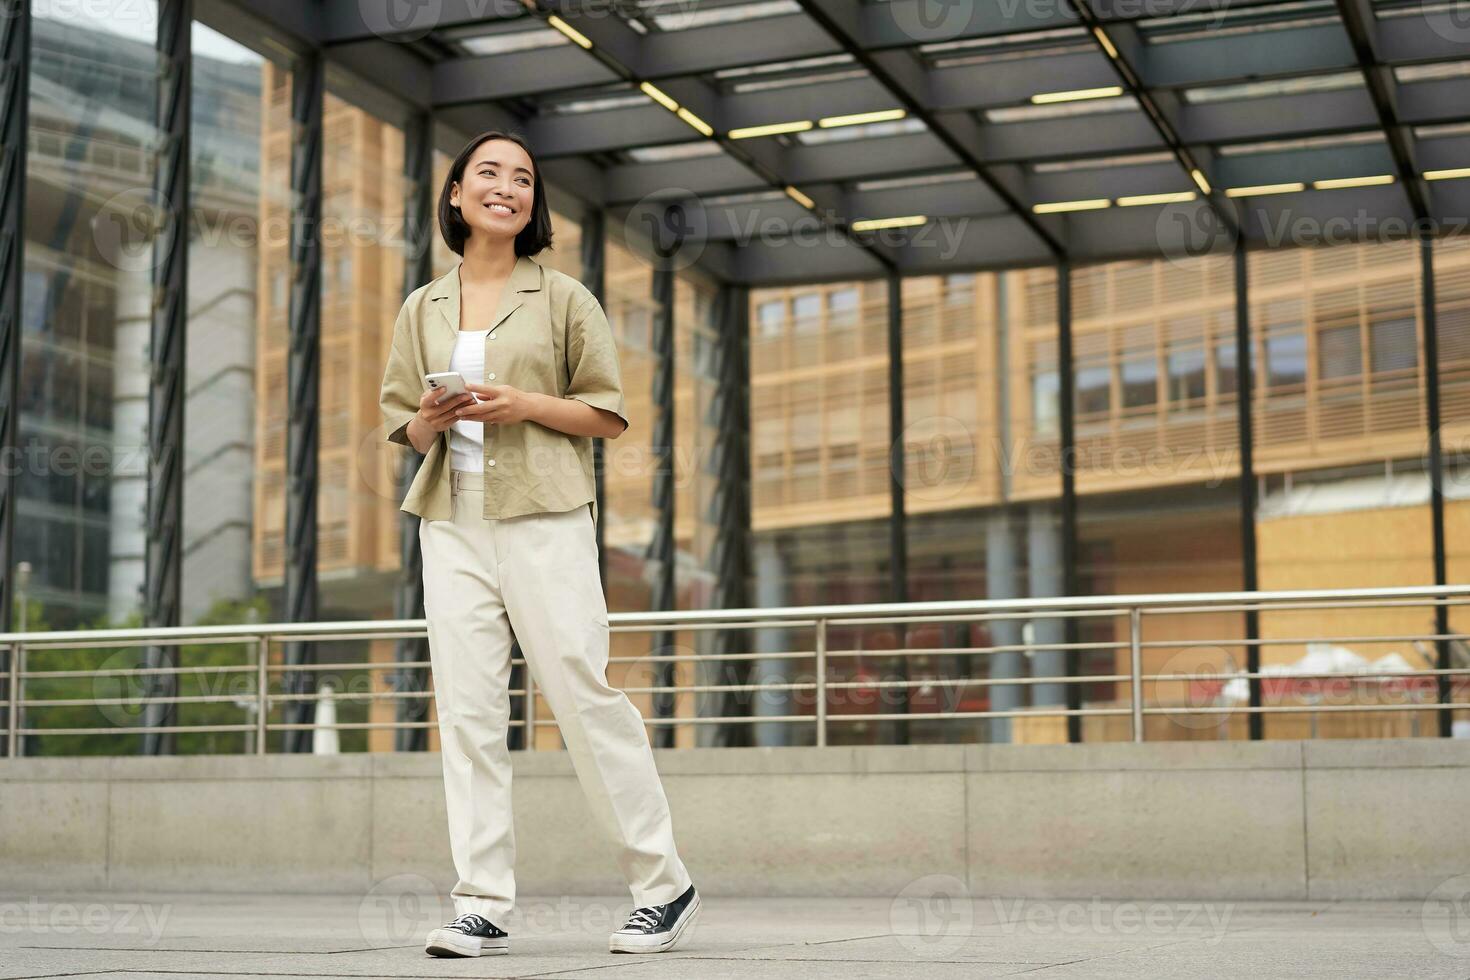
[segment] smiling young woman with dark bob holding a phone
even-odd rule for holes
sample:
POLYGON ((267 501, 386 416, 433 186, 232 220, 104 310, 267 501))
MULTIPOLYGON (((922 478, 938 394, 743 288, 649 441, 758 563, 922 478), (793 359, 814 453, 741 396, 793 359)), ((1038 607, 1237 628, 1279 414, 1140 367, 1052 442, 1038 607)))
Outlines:
POLYGON ((497 923, 516 890, 506 745, 513 636, 601 830, 619 846, 635 909, 609 949, 672 949, 700 898, 675 849, 642 716, 607 683, 591 441, 628 426, 612 328, 587 287, 532 259, 551 244, 551 212, 520 137, 470 140, 450 166, 438 220, 462 262, 403 304, 379 398, 388 441, 425 455, 400 510, 419 517, 459 874, 457 917, 425 949, 509 951, 497 923), (462 373, 469 394, 440 400, 425 382, 438 372, 462 373))

